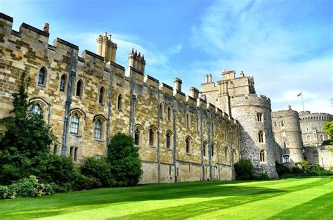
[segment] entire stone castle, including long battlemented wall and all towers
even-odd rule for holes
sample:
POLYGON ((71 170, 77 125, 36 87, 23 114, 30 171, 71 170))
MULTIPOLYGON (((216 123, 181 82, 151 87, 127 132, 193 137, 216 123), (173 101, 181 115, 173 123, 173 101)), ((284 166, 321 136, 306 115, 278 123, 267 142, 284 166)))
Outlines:
MULTIPOLYGON (((304 127, 316 129, 309 146, 328 138, 320 129, 332 115, 272 112, 270 99, 257 95, 254 79, 243 72, 225 71, 218 82, 207 75, 200 91, 191 87, 186 96, 181 79, 171 87, 145 75, 140 52, 131 49, 129 67, 117 64, 110 34, 97 37, 97 53, 79 56, 79 47, 63 39, 48 44, 48 24, 39 30, 22 23, 19 32, 12 25, 13 18, 0 13, 0 118, 13 108, 11 93, 25 72, 32 79, 32 110, 58 138, 51 152, 74 162, 105 155, 110 138, 123 132, 139 149, 141 183, 234 179, 241 157, 276 179, 275 161, 304 160, 304 127)), ((332 155, 320 155, 332 166, 332 155)))

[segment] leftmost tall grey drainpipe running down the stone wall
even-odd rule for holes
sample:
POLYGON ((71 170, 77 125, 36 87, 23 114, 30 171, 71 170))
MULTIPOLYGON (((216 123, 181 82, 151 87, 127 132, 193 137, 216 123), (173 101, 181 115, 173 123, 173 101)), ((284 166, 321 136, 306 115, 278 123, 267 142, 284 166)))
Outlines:
POLYGON ((63 145, 61 147, 61 155, 66 156, 67 154, 67 139, 68 139, 68 125, 70 124, 70 105, 72 103, 72 89, 74 77, 76 76, 74 70, 72 70, 74 63, 73 50, 70 51, 70 77, 69 83, 67 85, 67 98, 65 102, 65 118, 64 118, 64 127, 63 127, 63 145))

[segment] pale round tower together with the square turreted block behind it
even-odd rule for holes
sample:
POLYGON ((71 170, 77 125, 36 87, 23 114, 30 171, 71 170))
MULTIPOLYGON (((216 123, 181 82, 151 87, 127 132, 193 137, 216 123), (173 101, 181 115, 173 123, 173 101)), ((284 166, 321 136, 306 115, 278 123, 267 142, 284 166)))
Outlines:
POLYGON ((270 99, 256 95, 252 77, 244 76, 244 72, 240 77, 235 75, 233 70, 224 71, 218 82, 207 75, 201 93, 240 122, 241 157, 252 160, 256 173, 266 172, 270 179, 277 179, 270 99))

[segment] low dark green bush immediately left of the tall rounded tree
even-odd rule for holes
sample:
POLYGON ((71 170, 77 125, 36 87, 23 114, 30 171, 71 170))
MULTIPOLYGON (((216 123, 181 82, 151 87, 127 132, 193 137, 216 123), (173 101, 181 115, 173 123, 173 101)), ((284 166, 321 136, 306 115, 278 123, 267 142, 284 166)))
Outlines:
POLYGON ((110 164, 107 163, 105 157, 100 159, 88 157, 80 167, 81 174, 87 177, 97 179, 103 187, 113 186, 112 176, 110 173, 110 164))

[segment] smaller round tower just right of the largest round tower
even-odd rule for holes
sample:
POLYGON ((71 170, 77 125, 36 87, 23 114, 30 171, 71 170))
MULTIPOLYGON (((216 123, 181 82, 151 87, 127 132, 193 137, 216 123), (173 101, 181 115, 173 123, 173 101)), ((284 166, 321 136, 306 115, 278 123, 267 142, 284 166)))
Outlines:
POLYGON ((299 113, 292 110, 272 112, 272 125, 275 142, 278 147, 276 160, 287 167, 304 160, 299 113))

